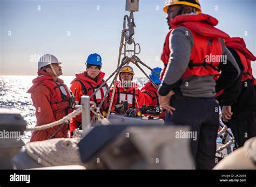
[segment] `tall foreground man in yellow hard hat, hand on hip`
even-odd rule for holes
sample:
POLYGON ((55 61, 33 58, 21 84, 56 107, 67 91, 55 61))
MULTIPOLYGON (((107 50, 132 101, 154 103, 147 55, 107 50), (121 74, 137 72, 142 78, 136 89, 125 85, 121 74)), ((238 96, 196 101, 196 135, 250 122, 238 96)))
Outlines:
POLYGON ((171 29, 161 54, 165 68, 158 90, 159 103, 168 111, 165 125, 190 126, 197 134, 191 140, 196 169, 212 169, 219 128, 215 85, 232 85, 240 69, 225 47, 223 39, 229 36, 214 27, 217 19, 201 13, 198 0, 168 1, 164 12, 171 29), (219 70, 223 81, 215 82, 219 70))

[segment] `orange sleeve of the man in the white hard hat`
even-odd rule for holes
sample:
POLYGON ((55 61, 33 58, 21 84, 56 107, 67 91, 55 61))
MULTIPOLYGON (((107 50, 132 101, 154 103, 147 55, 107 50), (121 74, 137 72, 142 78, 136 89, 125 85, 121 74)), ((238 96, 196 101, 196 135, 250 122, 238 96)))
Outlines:
MULTIPOLYGON (((45 85, 38 85, 38 87, 31 93, 33 105, 36 108, 37 126, 45 125, 56 121, 52 109, 51 100, 52 94, 45 85)), ((59 126, 47 128, 49 134, 53 134, 59 126)), ((62 131, 58 131, 55 134, 56 138, 65 137, 62 131)))

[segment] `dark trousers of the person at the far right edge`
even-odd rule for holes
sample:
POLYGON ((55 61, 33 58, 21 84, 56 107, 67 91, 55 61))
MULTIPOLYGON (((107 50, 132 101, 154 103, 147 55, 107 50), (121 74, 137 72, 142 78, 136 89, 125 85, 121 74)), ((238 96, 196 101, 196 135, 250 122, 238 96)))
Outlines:
POLYGON ((228 123, 238 147, 244 146, 246 140, 256 136, 256 113, 253 111, 235 112, 228 123))

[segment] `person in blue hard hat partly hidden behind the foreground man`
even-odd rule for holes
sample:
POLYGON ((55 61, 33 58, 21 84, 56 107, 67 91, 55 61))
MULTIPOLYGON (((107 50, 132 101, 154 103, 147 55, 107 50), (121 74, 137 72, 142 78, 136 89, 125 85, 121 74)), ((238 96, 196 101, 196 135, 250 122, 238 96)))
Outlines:
MULTIPOLYGON (((153 68, 153 70, 160 75, 162 69, 159 67, 156 67, 156 68, 153 68)), ((161 84, 159 75, 155 74, 153 71, 151 71, 149 75, 153 83, 157 85, 157 88, 154 87, 151 81, 147 81, 144 84, 144 87, 141 89, 145 97, 145 105, 147 106, 160 106, 159 99, 158 99, 158 90, 157 90, 159 88, 159 85, 161 84)), ((164 119, 164 116, 165 116, 165 112, 161 112, 160 119, 164 119)))

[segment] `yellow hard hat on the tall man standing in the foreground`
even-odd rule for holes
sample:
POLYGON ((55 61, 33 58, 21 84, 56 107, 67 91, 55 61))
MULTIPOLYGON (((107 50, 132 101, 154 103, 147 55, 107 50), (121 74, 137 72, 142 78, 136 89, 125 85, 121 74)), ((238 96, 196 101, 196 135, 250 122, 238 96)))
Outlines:
POLYGON ((199 0, 169 0, 165 2, 164 12, 167 13, 169 6, 172 5, 186 5, 192 6, 197 9, 197 13, 201 13, 201 6, 199 4, 199 0))

